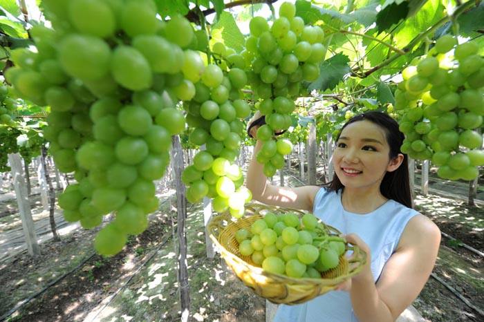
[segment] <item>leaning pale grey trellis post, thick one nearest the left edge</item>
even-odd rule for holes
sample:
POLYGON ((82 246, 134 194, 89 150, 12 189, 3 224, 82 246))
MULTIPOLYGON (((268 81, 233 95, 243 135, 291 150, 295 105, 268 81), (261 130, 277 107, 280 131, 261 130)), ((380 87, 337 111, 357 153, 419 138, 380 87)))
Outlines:
POLYGON ((32 219, 32 211, 30 210, 30 202, 28 201, 26 182, 19 153, 9 154, 8 161, 12 169, 13 185, 15 187, 15 195, 17 196, 17 204, 19 205, 28 254, 39 256, 40 248, 37 244, 37 234, 35 234, 35 225, 32 219))

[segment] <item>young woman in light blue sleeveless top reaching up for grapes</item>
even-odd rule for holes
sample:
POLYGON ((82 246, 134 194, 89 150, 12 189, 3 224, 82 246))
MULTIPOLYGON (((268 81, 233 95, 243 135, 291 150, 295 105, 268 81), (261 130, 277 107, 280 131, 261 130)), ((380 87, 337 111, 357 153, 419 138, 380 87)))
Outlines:
MULTIPOLYGON (((252 158, 247 187, 255 200, 311 211, 368 254, 351 281, 306 303, 279 305, 274 321, 395 321, 416 299, 434 267, 440 231, 411 209, 403 139, 389 115, 356 115, 337 138, 335 176, 323 188, 268 184, 263 166, 252 158)), ((260 148, 258 141, 254 155, 260 148)))

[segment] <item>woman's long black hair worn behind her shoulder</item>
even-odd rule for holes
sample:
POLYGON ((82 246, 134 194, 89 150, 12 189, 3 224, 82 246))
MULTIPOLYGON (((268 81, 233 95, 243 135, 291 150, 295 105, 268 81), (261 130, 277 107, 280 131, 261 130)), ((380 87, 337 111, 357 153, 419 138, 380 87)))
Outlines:
MULTIPOLYGON (((343 129, 348 126, 348 124, 362 120, 368 120, 384 129, 387 142, 390 146, 390 160, 396 158, 398 153, 402 153, 400 151, 400 146, 402 146, 402 142, 405 137, 398 129, 398 123, 386 113, 370 111, 355 115, 354 117, 351 117, 346 124, 344 124, 339 133, 341 134, 343 129)), ((339 139, 340 134, 338 134, 335 142, 337 142, 339 139)), ((412 202, 409 182, 408 156, 404 153, 402 154, 404 158, 402 164, 400 164, 400 167, 398 167, 398 169, 395 171, 385 173, 382 183, 380 184, 380 192, 385 198, 393 199, 397 202, 400 202, 402 205, 411 208, 412 202)), ((329 191, 338 191, 339 189, 344 188, 344 185, 341 183, 341 181, 339 181, 339 178, 336 175, 333 177, 331 182, 324 184, 324 186, 329 191)))

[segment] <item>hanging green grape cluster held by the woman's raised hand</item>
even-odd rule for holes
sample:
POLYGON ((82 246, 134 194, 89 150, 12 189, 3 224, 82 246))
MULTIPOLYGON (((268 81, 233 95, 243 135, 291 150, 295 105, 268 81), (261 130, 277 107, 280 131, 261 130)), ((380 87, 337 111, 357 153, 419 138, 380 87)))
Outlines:
POLYGON ((295 5, 286 2, 272 26, 262 17, 252 18, 250 37, 245 41, 245 57, 252 59, 250 83, 261 100, 257 108, 266 117, 266 124, 257 132, 263 141, 257 160, 264 164, 268 177, 284 166, 283 155, 292 151, 288 140, 276 141, 273 135, 292 125, 290 114, 295 111, 294 99, 303 90, 301 83, 319 77, 319 63, 326 53, 322 28, 305 26, 295 14, 295 5))

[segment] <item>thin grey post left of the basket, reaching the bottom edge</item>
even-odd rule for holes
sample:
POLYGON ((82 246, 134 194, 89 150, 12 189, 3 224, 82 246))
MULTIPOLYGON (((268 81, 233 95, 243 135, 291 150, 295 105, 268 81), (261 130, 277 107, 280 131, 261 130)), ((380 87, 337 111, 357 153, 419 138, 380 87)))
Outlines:
POLYGON ((181 321, 188 321, 190 308, 190 293, 187 269, 187 234, 185 232, 185 218, 187 218, 187 199, 185 198, 185 184, 181 180, 183 171, 183 150, 180 137, 174 135, 171 149, 173 171, 176 186, 177 235, 178 235, 178 287, 180 289, 181 321))

